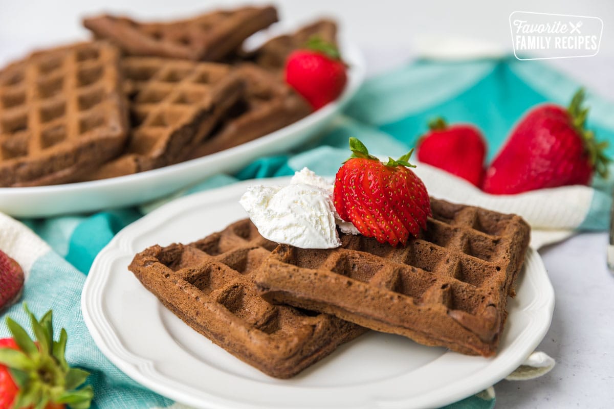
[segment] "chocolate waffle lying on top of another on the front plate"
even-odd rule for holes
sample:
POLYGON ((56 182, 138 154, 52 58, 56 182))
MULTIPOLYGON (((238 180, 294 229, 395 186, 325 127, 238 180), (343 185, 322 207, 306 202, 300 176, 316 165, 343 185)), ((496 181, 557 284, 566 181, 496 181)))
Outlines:
POLYGON ((258 293, 424 345, 492 356, 524 261, 529 226, 516 215, 431 199, 427 230, 405 247, 342 235, 332 250, 279 245, 258 293))

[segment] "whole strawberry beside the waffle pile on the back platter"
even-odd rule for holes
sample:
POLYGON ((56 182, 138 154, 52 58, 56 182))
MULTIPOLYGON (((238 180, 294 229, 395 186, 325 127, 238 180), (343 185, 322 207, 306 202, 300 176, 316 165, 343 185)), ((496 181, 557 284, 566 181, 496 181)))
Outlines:
POLYGON ((309 40, 308 49, 292 52, 286 61, 286 82, 313 106, 320 109, 343 91, 348 76, 335 45, 319 38, 309 40))

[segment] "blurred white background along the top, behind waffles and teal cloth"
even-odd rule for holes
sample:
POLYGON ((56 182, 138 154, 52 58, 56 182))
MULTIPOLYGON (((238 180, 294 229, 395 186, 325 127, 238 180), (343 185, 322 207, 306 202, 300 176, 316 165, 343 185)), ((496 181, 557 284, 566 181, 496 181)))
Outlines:
MULTIPOLYGON (((87 39, 80 25, 85 15, 125 13, 143 19, 188 17, 236 4, 235 0, 31 0, 0 1, 0 64, 33 48, 87 39)), ((271 3, 254 0, 249 3, 271 3)), ((513 52, 509 17, 513 11, 599 17, 604 23, 599 53, 587 58, 549 60, 596 93, 614 99, 614 1, 394 1, 278 0, 282 21, 308 21, 330 15, 346 39, 362 48, 368 73, 375 74, 425 53, 469 45, 488 55, 513 52)))

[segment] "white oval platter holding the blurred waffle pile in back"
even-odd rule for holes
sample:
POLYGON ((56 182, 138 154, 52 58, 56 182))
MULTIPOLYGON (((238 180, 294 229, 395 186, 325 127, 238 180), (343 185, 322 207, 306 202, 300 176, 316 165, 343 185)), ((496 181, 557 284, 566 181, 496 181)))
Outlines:
POLYGON ((334 102, 278 131, 203 158, 160 169, 93 182, 31 188, 0 188, 0 212, 15 217, 48 217, 125 207, 165 196, 219 172, 235 172, 249 162, 297 147, 317 136, 356 93, 365 62, 356 45, 342 45, 348 83, 334 102))

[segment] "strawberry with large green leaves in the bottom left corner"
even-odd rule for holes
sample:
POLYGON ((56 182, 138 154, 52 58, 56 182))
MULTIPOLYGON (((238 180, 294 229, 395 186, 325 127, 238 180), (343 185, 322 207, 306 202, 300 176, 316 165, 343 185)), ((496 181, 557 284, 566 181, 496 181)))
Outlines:
POLYGON ((76 389, 89 373, 71 368, 64 359, 66 331, 53 340, 52 312, 41 320, 29 312, 36 342, 10 318, 12 338, 0 340, 0 409, 87 409, 93 397, 91 386, 76 389))

